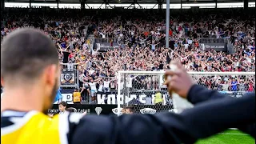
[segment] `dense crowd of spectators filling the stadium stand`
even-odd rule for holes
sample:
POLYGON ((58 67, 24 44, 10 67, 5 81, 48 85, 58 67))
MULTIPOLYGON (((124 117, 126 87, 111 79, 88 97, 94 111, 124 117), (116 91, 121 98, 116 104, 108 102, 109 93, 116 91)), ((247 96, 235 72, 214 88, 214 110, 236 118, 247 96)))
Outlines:
MULTIPOLYGON (((155 10, 40 10, 2 11, 1 38, 20 27, 43 30, 56 43, 63 69, 79 70, 80 87, 92 92, 117 89, 118 70, 166 70, 178 59, 188 71, 253 72, 255 71, 254 10, 191 11, 171 13, 170 49, 165 48, 165 13, 155 10), (203 14, 200 14, 203 13, 203 14), (89 37, 90 36, 90 37, 89 37), (118 49, 100 52, 93 39, 116 39, 118 49), (201 38, 227 38, 234 54, 204 51, 201 38), (89 90, 90 87, 90 90, 89 90)), ((210 88, 234 90, 232 76, 194 78, 210 88), (227 87, 223 85, 228 85, 227 87)), ((254 90, 255 79, 243 75, 236 82, 254 90)), ((134 77, 134 83, 149 78, 134 77), (136 81, 136 82, 135 82, 136 81)), ((152 78, 151 78, 152 79, 152 78)), ((154 79, 154 78, 153 78, 154 79)), ((151 82, 151 81, 150 81, 151 82)), ((158 82, 152 81, 154 89, 158 82)), ((238 85, 235 84, 235 85, 238 85)), ((150 86, 141 86, 141 88, 150 86)), ((152 87, 151 87, 152 88, 152 87)))

